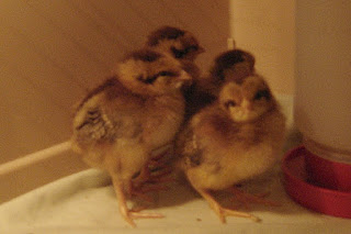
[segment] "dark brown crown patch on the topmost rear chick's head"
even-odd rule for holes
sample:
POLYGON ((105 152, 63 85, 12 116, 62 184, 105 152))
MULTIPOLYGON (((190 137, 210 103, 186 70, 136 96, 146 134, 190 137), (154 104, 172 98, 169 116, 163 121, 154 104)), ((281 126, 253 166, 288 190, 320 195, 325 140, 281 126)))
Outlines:
POLYGON ((147 45, 156 46, 161 40, 177 40, 184 34, 185 32, 180 29, 173 26, 162 26, 149 35, 147 45))

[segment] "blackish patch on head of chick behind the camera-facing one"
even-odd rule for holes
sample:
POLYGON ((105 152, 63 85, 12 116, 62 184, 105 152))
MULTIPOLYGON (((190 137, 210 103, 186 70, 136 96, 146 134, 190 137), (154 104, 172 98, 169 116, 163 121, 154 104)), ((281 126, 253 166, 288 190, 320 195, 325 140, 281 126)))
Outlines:
POLYGON ((244 56, 247 54, 241 49, 231 49, 220 54, 215 59, 215 65, 211 70, 212 76, 217 77, 219 80, 225 80, 224 71, 238 63, 245 62, 244 56))

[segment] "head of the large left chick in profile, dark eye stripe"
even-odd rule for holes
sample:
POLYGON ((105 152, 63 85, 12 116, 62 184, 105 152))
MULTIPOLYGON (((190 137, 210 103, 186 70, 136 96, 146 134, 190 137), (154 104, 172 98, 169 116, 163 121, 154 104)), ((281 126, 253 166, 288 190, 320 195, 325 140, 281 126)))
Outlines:
POLYGON ((132 53, 117 64, 116 74, 127 89, 146 96, 181 93, 192 80, 177 59, 151 49, 132 53))

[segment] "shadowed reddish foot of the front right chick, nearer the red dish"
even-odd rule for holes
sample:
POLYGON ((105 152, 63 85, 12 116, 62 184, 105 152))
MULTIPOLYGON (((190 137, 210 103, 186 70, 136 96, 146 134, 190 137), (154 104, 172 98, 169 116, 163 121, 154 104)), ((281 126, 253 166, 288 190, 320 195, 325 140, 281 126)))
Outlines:
POLYGON ((250 203, 259 203, 269 207, 280 207, 281 204, 274 201, 264 199, 268 194, 250 194, 233 187, 229 191, 235 196, 235 199, 239 201, 246 209, 249 209, 250 203))

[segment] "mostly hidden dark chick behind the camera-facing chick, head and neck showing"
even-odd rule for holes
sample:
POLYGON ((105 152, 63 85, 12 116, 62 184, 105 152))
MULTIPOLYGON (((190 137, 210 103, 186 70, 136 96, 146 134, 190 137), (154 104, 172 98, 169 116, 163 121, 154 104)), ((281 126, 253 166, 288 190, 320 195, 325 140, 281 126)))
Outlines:
POLYGON ((217 97, 226 81, 241 83, 244 78, 254 74, 254 57, 242 49, 230 49, 219 54, 210 69, 210 76, 200 87, 205 92, 217 97))

